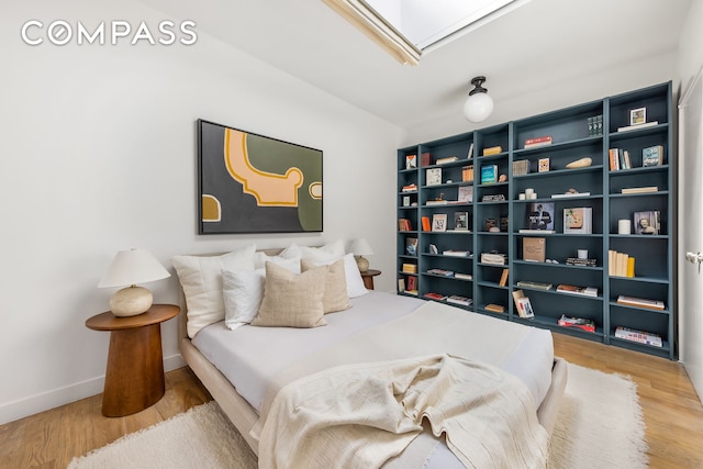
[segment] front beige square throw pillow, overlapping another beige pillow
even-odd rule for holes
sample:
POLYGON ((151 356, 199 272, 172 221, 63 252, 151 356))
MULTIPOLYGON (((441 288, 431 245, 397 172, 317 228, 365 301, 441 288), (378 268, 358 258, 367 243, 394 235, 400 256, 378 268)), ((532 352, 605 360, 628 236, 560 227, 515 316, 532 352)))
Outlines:
POLYGON ((266 263, 264 300, 253 326, 317 327, 324 320, 322 298, 325 293, 327 266, 295 275, 286 267, 266 263))

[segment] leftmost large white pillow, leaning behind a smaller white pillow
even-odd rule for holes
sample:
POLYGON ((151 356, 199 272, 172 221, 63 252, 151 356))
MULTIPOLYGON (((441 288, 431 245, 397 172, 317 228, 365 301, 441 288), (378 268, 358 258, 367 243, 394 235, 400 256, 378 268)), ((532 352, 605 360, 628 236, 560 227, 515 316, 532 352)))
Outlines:
POLYGON ((171 264, 186 295, 188 336, 224 320, 223 270, 254 270, 255 245, 222 256, 174 256, 171 264))

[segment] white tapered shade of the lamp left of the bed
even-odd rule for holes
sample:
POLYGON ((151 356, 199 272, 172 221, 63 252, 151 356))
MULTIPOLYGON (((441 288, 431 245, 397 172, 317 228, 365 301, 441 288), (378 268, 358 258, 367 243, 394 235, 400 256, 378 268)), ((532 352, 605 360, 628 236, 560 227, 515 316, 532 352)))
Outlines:
POLYGON ((124 287, 165 279, 171 275, 146 249, 121 250, 112 259, 98 288, 124 287))

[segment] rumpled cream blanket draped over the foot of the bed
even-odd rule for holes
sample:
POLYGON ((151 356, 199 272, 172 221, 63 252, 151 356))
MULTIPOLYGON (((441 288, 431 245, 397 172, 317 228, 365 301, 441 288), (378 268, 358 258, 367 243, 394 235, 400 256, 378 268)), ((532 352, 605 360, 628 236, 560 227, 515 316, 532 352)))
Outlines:
POLYGON ((284 386, 259 439, 261 468, 380 467, 422 432, 467 467, 540 468, 548 436, 532 395, 495 367, 435 355, 346 365, 284 386))

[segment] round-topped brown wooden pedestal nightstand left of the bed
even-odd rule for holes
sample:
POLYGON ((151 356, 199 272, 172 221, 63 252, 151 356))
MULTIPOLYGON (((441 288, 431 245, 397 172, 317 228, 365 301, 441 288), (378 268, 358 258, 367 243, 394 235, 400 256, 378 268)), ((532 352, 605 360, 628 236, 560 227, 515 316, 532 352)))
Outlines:
POLYGON ((164 397, 161 323, 179 312, 175 304, 153 304, 137 316, 118 317, 108 311, 86 321, 91 330, 110 331, 102 394, 104 416, 134 414, 164 397))

